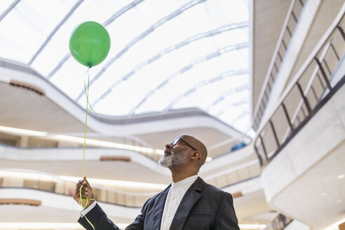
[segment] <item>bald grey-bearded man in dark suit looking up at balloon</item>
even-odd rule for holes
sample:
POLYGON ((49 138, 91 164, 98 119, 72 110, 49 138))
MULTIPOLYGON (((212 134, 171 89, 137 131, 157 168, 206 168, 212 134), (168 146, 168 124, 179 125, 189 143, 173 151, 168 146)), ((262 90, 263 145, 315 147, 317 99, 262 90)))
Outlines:
MULTIPOLYGON (((158 163, 170 169, 172 184, 149 198, 126 230, 239 230, 231 194, 198 177, 207 155, 205 145, 190 135, 180 135, 165 144, 164 156, 158 163)), ((76 202, 80 194, 83 205, 86 196, 94 198, 86 177, 76 184, 76 202)), ((78 222, 89 230, 119 230, 95 201, 89 201, 78 222)))

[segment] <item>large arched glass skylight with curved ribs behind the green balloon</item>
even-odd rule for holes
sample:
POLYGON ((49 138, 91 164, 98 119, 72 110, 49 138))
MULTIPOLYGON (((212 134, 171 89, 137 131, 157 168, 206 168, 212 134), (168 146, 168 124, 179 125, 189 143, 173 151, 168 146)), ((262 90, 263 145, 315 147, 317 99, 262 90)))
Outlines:
POLYGON ((1 1, 0 57, 30 65, 81 107, 87 67, 69 54, 82 22, 107 28, 111 49, 90 69, 99 114, 133 116, 197 107, 250 126, 245 0, 1 1))

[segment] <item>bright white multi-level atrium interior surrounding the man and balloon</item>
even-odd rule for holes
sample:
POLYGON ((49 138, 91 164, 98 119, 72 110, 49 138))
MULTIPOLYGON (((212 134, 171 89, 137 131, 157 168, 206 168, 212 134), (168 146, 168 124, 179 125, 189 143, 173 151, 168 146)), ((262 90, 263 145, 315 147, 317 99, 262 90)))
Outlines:
POLYGON ((1 1, 0 230, 83 229, 84 175, 125 229, 171 183, 158 161, 182 134, 208 148, 198 176, 232 194, 241 230, 344 230, 344 13, 344 0, 1 1), (86 21, 111 39, 90 69, 69 53, 86 21))

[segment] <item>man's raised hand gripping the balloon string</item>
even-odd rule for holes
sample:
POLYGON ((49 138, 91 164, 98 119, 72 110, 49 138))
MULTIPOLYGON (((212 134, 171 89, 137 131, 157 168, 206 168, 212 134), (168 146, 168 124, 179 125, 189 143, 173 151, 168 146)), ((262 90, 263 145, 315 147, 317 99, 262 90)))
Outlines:
POLYGON ((86 177, 83 180, 79 180, 78 184, 76 184, 76 191, 74 192, 74 201, 79 203, 83 206, 83 208, 88 208, 95 200, 95 196, 93 196, 93 189, 90 187, 88 180, 86 177), (80 196, 81 195, 81 196, 80 196), (86 196, 88 199, 86 199, 86 196))

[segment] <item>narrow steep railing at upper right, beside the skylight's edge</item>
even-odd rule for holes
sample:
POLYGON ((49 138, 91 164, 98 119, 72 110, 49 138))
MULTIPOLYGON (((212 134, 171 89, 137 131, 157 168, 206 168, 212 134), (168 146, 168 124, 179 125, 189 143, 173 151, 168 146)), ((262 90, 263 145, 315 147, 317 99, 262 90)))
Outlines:
POLYGON ((283 62, 286 50, 288 50, 292 32, 297 25, 299 14, 301 13, 303 6, 304 1, 302 0, 292 0, 291 2, 290 8, 288 10, 288 15, 285 19, 282 32, 280 33, 278 43, 276 45, 276 50, 273 53, 271 64, 269 65, 262 90, 259 94, 259 99, 257 100, 257 104, 254 109, 252 117, 252 127, 255 130, 259 128, 259 123, 261 122, 262 116, 264 115, 266 104, 269 101, 269 95, 271 93, 273 82, 278 75, 278 71, 281 63, 283 62))

